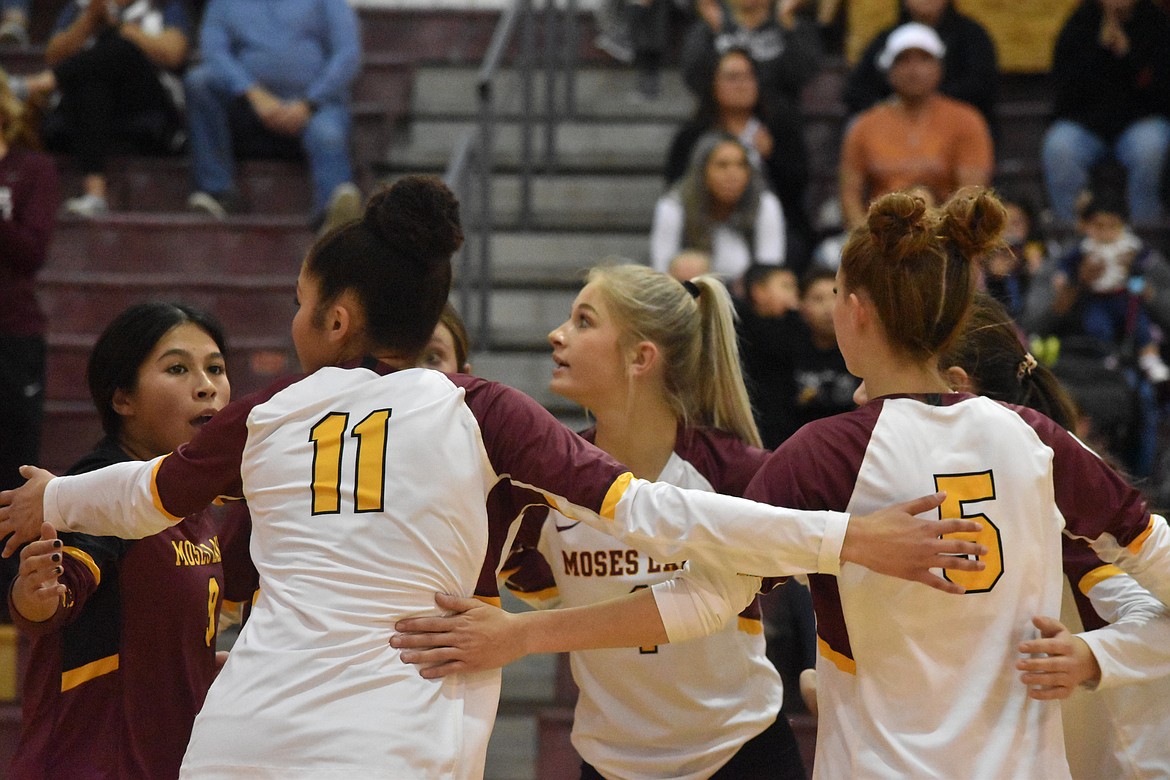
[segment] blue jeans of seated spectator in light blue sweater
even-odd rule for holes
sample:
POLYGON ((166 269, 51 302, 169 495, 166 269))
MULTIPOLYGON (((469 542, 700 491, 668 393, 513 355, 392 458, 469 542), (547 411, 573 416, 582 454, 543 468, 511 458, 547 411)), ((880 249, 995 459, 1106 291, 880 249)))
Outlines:
MULTIPOLYGON (((235 189, 233 126, 240 125, 240 96, 232 95, 226 82, 206 65, 187 71, 187 122, 191 125, 191 164, 195 188, 212 194, 235 189)), ((248 109, 250 111, 250 109, 248 109)), ((252 117, 245 117, 249 120, 252 117)), ((259 119, 256 119, 259 122, 259 119)), ((236 140, 248 138, 260 127, 249 127, 236 140)), ((270 133, 271 134, 271 133, 270 133)), ((277 137, 274 139, 280 141, 277 137)), ((291 141, 292 139, 287 139, 291 141)), ((312 178, 312 205, 322 214, 333 188, 353 180, 350 166, 350 111, 340 103, 323 103, 301 131, 301 150, 312 178)))

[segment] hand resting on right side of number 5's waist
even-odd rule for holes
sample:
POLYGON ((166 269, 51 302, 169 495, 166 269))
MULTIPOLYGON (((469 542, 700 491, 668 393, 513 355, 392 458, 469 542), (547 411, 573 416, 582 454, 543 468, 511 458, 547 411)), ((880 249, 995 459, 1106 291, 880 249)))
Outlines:
POLYGON ((1066 699, 1081 683, 1101 679, 1101 667, 1085 640, 1055 617, 1037 616, 1032 624, 1040 639, 1020 642, 1024 657, 1016 662, 1028 698, 1066 699))

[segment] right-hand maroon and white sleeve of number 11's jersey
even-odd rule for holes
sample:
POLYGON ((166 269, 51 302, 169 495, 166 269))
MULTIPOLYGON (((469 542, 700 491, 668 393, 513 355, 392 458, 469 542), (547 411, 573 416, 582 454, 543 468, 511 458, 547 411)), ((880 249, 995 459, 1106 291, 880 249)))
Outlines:
POLYGON ((638 479, 519 391, 459 378, 493 468, 550 506, 661 562, 700 559, 737 573, 840 570, 842 512, 800 512, 638 479))

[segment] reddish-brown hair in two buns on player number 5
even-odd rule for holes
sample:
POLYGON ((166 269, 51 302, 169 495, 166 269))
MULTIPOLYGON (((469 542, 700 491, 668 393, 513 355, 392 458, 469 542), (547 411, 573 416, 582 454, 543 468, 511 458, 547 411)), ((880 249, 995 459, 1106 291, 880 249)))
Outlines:
POLYGON ((869 295, 895 348, 918 360, 938 354, 962 332, 973 261, 999 246, 1006 220, 982 187, 959 191, 938 209, 909 193, 882 195, 841 251, 845 288, 869 295))

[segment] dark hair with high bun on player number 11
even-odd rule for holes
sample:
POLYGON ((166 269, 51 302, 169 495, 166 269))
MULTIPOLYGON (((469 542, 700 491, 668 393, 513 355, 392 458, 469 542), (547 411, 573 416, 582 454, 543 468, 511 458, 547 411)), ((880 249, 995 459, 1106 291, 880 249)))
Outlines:
POLYGON ((321 308, 357 296, 370 339, 417 358, 450 292, 450 257, 463 244, 459 201, 436 177, 411 175, 376 193, 360 220, 323 236, 305 271, 321 308))

